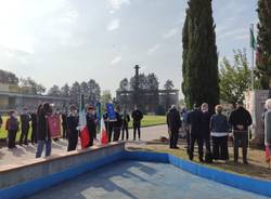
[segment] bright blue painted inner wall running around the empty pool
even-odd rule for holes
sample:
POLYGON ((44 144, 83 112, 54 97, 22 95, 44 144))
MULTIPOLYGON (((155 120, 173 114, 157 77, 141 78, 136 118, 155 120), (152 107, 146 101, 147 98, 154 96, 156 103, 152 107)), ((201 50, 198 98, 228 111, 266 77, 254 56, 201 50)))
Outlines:
POLYGON ((227 173, 211 168, 206 168, 203 167, 202 164, 197 164, 191 161, 182 160, 173 155, 168 155, 168 154, 121 151, 113 156, 102 158, 94 162, 77 165, 60 173, 48 175, 41 178, 37 178, 35 181, 22 183, 16 186, 0 190, 0 199, 17 199, 30 196, 37 191, 50 188, 51 186, 56 185, 63 181, 70 180, 82 173, 92 171, 102 165, 118 160, 137 160, 137 161, 171 163, 184 171, 188 171, 201 177, 212 180, 215 182, 222 183, 243 190, 248 190, 255 194, 271 197, 271 181, 262 181, 262 180, 227 173))

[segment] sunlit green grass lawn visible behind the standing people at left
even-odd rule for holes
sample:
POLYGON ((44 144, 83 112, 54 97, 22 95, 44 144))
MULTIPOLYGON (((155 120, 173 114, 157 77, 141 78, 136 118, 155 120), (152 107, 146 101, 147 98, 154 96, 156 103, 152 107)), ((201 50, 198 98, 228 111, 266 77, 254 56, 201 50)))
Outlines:
MULTIPOLYGON (((7 131, 5 131, 5 120, 8 117, 2 117, 3 119, 3 125, 0 130, 0 138, 5 138, 7 137, 7 131)), ((142 120, 142 127, 150 127, 150 125, 157 125, 157 124, 165 124, 166 123, 166 117, 165 116, 144 116, 142 120)), ((132 121, 129 123, 129 127, 132 127, 132 121)), ((30 138, 30 132, 29 130, 29 135, 28 137, 30 138)), ((17 140, 21 135, 21 132, 17 133, 17 140)))

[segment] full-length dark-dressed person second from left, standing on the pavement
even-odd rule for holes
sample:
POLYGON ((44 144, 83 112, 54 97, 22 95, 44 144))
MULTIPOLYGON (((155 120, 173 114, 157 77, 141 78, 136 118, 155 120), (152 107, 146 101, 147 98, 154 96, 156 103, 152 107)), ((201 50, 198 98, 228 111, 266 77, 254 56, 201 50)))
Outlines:
POLYGON ((29 132, 29 122, 31 121, 31 118, 29 114, 27 112, 27 108, 23 109, 23 114, 20 116, 21 120, 21 136, 20 136, 20 145, 28 145, 28 132, 29 132))

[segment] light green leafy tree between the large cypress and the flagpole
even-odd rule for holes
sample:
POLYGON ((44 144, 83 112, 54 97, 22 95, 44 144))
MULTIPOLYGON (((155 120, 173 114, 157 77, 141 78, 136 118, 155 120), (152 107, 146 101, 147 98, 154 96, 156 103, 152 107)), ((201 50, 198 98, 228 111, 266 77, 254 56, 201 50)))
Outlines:
POLYGON ((245 91, 251 82, 245 51, 234 51, 234 62, 230 63, 225 57, 220 67, 220 97, 222 101, 235 105, 237 101, 245 100, 245 91))

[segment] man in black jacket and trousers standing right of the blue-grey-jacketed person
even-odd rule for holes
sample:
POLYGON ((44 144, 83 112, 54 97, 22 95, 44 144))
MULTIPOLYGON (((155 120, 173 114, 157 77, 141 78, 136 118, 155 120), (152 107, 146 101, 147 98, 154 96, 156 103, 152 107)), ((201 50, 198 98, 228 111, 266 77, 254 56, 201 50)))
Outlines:
POLYGON ((253 119, 250 114, 244 108, 243 102, 237 103, 237 107, 232 111, 229 122, 233 129, 234 162, 238 161, 238 146, 241 145, 243 162, 247 164, 248 127, 251 125, 253 119))

